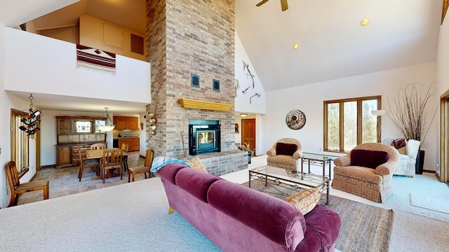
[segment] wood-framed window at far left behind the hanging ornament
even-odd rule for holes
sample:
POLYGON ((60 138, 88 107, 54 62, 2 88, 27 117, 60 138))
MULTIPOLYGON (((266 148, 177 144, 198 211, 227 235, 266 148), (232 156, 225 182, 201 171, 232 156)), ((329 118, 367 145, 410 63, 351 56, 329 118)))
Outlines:
POLYGON ((20 130, 21 118, 27 118, 26 112, 11 109, 11 160, 20 173, 23 167, 29 165, 29 137, 20 130))

